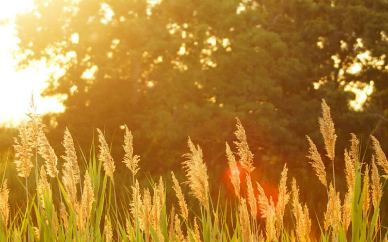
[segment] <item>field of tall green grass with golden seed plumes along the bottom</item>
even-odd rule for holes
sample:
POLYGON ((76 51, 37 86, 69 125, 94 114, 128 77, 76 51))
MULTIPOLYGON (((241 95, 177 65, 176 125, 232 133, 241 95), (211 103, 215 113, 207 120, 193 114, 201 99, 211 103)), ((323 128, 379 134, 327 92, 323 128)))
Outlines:
MULTIPOLYGON (((31 105, 34 108, 33 102, 31 105)), ((350 147, 344 151, 342 175, 347 191, 341 195, 336 191, 334 176, 326 175, 328 167, 324 166, 321 153, 307 136, 308 158, 317 175, 312 182, 321 182, 322 191, 327 193, 324 221, 317 222, 321 233, 313 234, 311 221, 318 215, 300 200, 298 182, 289 179, 292 174, 288 174, 287 165, 279 174, 276 200, 267 197, 261 185, 252 181, 254 157, 242 123, 236 120, 236 141, 232 146, 235 151, 226 143, 225 159, 235 200, 221 206, 210 197, 206 161, 201 148, 189 138, 182 163, 186 180, 178 181, 171 172, 178 203, 166 204, 166 189, 171 189, 166 187, 166 178, 140 187, 136 177, 140 157, 133 151, 133 136, 127 126, 122 162, 128 167, 129 179, 126 189, 119 191, 114 177, 117 161, 113 161, 101 130, 97 129, 96 150, 93 145, 90 154, 81 152, 82 157, 78 158, 66 129, 62 142, 65 153, 58 162, 43 124, 33 111, 15 138, 14 161, 3 161, 15 163, 15 180, 23 186, 25 200, 16 203, 20 206, 10 207, 9 195, 13 191, 3 175, 0 241, 387 241, 379 207, 383 183, 388 178, 388 161, 376 138, 371 136, 374 154, 371 161, 366 161, 359 151, 358 138, 352 134, 350 147), (44 160, 44 165, 39 167, 38 159, 44 160), (242 174, 246 186, 241 184, 242 174), (183 194, 181 186, 189 186, 191 194, 183 194), (117 193, 125 193, 127 199, 117 199, 117 193), (187 196, 198 200, 199 212, 188 209, 187 196)), ((319 126, 326 156, 332 162, 332 173, 328 173, 334 174, 337 136, 324 100, 319 126)))

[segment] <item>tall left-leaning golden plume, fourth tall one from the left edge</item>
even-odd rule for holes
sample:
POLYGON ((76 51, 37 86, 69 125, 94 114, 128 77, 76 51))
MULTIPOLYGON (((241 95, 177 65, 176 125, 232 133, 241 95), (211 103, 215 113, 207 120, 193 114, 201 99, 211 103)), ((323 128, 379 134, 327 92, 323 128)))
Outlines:
POLYGON ((65 160, 65 163, 69 164, 69 168, 73 170, 72 173, 74 174, 74 182, 77 185, 81 181, 80 167, 77 162, 77 154, 74 148, 73 137, 67 127, 65 128, 62 145, 65 147, 65 155, 62 155, 61 157, 65 160))

